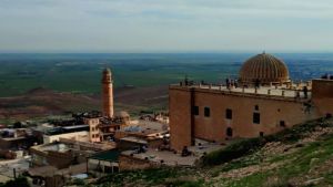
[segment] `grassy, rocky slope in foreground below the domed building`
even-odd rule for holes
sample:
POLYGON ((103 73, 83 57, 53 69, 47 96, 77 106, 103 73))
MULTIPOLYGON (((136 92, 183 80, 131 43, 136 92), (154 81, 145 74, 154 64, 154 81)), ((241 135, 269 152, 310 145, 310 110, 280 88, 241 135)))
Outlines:
POLYGON ((122 172, 87 186, 332 186, 332 145, 333 120, 316 120, 235 142, 206 155, 198 168, 122 172))

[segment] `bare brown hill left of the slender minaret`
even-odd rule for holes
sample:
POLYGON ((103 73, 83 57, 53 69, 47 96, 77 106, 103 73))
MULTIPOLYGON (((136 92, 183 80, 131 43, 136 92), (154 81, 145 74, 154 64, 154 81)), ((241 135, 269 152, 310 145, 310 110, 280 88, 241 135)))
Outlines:
POLYGON ((0 97, 0 120, 29 120, 98 106, 99 100, 90 96, 38 87, 19 96, 0 97))

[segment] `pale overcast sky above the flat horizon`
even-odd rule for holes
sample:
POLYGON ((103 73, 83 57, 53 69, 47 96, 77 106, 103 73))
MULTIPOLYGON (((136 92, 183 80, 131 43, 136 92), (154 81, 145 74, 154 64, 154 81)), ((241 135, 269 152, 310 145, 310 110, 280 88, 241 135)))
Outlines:
POLYGON ((0 0, 1 52, 333 52, 332 0, 0 0))

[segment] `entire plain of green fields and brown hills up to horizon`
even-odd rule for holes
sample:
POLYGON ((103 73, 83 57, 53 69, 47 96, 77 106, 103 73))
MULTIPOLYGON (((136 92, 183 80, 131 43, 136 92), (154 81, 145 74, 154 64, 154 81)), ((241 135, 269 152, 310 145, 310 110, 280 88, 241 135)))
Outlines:
MULTIPOLYGON (((168 110, 168 85, 188 76, 236 79, 250 53, 0 54, 0 123, 100 110, 101 72, 112 69, 117 110, 168 110)), ((275 54, 294 81, 333 74, 333 54, 275 54)))

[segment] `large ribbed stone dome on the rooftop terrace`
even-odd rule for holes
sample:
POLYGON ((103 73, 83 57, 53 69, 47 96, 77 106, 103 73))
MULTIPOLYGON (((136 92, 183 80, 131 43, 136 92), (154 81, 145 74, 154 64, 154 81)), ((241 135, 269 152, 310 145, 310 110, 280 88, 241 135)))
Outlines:
POLYGON ((289 71, 280 59, 262 53, 250 58, 240 71, 240 82, 243 84, 286 83, 289 82, 289 71))

